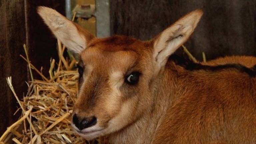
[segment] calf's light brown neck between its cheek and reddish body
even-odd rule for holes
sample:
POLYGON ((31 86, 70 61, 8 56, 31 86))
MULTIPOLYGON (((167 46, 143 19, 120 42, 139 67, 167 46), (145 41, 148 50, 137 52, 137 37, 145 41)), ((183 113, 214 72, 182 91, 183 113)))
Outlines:
POLYGON ((162 116, 167 107, 172 103, 172 77, 170 70, 165 70, 163 74, 154 81, 152 88, 153 103, 151 108, 143 114, 136 122, 124 129, 109 135, 109 143, 151 143, 158 126, 161 124, 162 116))

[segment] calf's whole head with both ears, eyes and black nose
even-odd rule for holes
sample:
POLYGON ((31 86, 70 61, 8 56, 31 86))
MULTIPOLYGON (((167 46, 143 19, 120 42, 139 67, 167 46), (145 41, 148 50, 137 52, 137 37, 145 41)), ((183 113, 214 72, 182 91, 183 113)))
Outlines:
POLYGON ((60 41, 79 57, 79 93, 72 127, 92 139, 120 131, 150 113, 156 81, 168 57, 192 34, 195 10, 149 41, 127 36, 96 38, 57 11, 38 13, 60 41))

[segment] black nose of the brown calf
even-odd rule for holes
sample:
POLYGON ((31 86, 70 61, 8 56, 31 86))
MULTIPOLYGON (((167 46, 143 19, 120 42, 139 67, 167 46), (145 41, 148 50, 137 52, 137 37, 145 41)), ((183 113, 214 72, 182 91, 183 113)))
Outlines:
POLYGON ((73 115, 73 124, 79 129, 85 129, 91 127, 97 123, 97 118, 95 116, 90 118, 81 118, 78 117, 77 114, 73 115))

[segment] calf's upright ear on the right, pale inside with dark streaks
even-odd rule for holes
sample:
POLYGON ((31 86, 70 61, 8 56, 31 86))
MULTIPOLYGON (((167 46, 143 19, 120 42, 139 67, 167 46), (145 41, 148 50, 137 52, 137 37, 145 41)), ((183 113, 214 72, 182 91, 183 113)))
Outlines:
POLYGON ((153 59, 155 73, 164 68, 168 57, 173 54, 184 42, 187 41, 197 26, 202 10, 195 10, 180 18, 173 25, 165 29, 153 39, 153 59))

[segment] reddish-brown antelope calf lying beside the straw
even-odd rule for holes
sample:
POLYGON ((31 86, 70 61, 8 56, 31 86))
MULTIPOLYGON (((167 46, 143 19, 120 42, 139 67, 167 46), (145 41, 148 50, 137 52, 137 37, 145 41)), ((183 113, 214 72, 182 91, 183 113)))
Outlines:
POLYGON ((195 10, 149 41, 96 38, 39 7, 53 34, 79 57, 72 127, 110 143, 256 143, 256 58, 195 64, 172 55, 197 26, 195 10))

